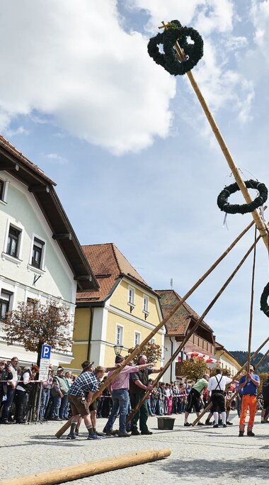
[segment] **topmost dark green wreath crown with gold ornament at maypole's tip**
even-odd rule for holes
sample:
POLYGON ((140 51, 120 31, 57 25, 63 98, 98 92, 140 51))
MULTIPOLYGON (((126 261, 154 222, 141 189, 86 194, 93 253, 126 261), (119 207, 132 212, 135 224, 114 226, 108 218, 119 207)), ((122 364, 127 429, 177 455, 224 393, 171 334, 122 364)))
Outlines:
POLYGON ((161 65, 170 74, 185 74, 198 63, 203 55, 203 41, 197 30, 191 27, 182 27, 177 20, 167 24, 164 32, 157 34, 149 40, 147 50, 156 64, 161 65), (190 37, 193 43, 188 43, 190 37), (176 57, 174 45, 178 42, 185 54, 185 60, 176 57), (160 52, 159 44, 163 45, 164 53, 160 52))

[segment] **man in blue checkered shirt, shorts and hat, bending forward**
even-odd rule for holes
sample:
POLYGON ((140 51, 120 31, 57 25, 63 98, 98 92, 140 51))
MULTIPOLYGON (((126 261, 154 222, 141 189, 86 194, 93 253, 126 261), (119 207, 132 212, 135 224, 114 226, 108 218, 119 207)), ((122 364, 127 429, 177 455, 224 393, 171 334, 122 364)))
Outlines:
POLYGON ((84 423, 88 430, 88 440, 100 439, 100 437, 93 432, 90 411, 88 409, 88 406, 91 404, 91 398, 98 389, 98 383, 103 378, 105 368, 99 366, 96 368, 96 371, 95 374, 93 374, 93 372, 82 372, 68 391, 72 420, 67 440, 74 440, 76 438, 75 429, 79 421, 79 416, 84 418, 84 423))

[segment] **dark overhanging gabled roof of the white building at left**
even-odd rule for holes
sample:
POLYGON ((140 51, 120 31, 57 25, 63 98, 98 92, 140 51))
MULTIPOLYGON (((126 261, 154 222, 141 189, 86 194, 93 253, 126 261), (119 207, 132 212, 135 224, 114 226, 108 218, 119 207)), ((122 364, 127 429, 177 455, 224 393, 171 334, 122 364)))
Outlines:
POLYGON ((98 283, 76 238, 67 214, 59 201, 56 185, 44 172, 22 155, 11 143, 0 135, 0 172, 6 171, 28 186, 35 196, 47 224, 52 230, 52 238, 64 254, 78 289, 98 289, 98 283))

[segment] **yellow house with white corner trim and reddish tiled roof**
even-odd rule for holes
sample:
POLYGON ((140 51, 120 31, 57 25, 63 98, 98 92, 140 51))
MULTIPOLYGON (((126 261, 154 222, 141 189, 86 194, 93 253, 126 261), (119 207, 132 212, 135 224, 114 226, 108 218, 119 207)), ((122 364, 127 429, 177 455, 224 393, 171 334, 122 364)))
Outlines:
MULTIPOLYGON (((115 345, 122 355, 149 335, 163 319, 159 296, 147 285, 113 243, 82 246, 98 281, 98 291, 77 294, 74 324, 74 361, 81 369, 88 359, 113 366, 115 345)), ((151 341, 164 348, 165 329, 151 341)))

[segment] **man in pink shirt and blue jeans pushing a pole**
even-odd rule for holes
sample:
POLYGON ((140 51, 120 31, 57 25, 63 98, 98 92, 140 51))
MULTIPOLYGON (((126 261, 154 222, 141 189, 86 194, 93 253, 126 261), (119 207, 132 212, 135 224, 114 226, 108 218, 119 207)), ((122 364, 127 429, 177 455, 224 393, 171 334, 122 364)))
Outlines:
MULTIPOLYGON (((120 363, 125 358, 122 355, 116 355, 115 357, 115 364, 116 366, 120 365, 120 363)), ((105 425, 105 433, 109 436, 113 434, 113 423, 118 416, 120 410, 120 419, 119 419, 119 437, 128 437, 131 436, 131 433, 127 433, 126 431, 126 417, 128 413, 130 398, 129 398, 129 376, 132 372, 139 372, 140 369, 145 369, 153 364, 142 364, 131 367, 130 365, 126 365, 121 371, 120 374, 115 378, 114 381, 110 384, 110 390, 112 391, 112 410, 110 416, 108 418, 108 423, 105 425)), ((113 371, 108 372, 108 377, 113 374, 113 371)))

